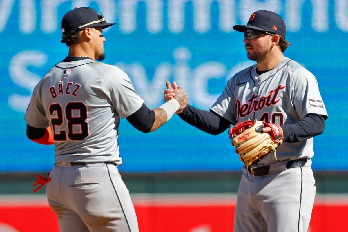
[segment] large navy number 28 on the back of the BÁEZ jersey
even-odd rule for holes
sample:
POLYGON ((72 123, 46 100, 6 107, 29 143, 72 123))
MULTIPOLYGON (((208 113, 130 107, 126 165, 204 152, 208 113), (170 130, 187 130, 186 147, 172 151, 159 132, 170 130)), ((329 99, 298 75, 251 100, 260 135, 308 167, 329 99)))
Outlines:
POLYGON ((71 141, 82 141, 89 134, 88 122, 86 121, 88 118, 87 114, 87 106, 83 102, 68 102, 65 105, 64 111, 63 107, 60 103, 54 103, 49 105, 49 113, 51 116, 57 113, 57 118, 51 118, 51 123, 53 126, 53 139, 54 141, 66 141, 66 130, 58 130, 56 133, 56 126, 62 126, 64 122, 64 117, 68 121, 68 138, 71 141), (76 114, 78 116, 73 115, 73 111, 78 111, 76 114), (75 126, 75 127, 74 127, 75 126), (78 126, 78 132, 74 133, 74 129, 78 126))

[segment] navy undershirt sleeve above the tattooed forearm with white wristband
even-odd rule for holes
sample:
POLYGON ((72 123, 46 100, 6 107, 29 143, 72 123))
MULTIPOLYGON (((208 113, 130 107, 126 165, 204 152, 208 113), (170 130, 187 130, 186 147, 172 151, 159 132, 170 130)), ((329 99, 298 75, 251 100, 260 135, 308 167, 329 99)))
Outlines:
POLYGON ((148 133, 152 128, 153 122, 155 122, 155 118, 155 112, 143 103, 139 110, 129 115, 126 119, 136 129, 143 133, 148 133))

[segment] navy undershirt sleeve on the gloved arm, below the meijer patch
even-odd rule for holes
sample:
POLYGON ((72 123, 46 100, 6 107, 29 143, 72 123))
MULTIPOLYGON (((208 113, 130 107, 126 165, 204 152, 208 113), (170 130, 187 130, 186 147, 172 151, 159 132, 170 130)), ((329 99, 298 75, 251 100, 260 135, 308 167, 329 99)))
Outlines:
POLYGON ((291 125, 281 126, 284 141, 295 143, 320 135, 324 131, 324 117, 320 114, 307 114, 306 117, 291 125))

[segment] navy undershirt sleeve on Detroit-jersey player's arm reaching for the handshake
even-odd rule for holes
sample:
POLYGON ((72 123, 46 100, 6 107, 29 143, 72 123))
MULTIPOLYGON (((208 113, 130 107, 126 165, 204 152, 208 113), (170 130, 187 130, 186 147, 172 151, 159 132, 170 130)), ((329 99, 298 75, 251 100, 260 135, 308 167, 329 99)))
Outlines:
POLYGON ((190 125, 212 135, 222 133, 232 124, 215 112, 199 110, 191 105, 187 105, 183 112, 178 115, 190 125))

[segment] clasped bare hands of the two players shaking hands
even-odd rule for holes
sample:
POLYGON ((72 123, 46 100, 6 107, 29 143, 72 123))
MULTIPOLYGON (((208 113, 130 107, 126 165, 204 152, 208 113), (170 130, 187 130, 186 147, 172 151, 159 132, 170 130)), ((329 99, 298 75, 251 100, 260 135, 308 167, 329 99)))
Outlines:
POLYGON ((175 81, 173 81, 173 87, 169 81, 166 81, 166 85, 167 89, 164 90, 164 102, 168 102, 169 100, 175 98, 180 104, 179 110, 175 113, 180 114, 187 106, 189 97, 183 88, 177 87, 175 81))

